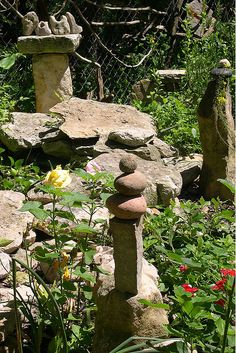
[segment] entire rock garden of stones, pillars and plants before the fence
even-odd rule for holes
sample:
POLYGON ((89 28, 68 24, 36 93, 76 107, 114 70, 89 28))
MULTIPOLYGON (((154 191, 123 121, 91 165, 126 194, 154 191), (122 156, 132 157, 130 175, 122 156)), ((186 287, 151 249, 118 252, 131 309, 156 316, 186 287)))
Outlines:
MULTIPOLYGON (((134 3, 104 6, 161 12, 134 3)), ((11 107, 3 81, 0 353, 233 353, 233 68, 216 25, 224 23, 205 1, 188 2, 184 39, 176 44, 176 32, 166 54, 186 69, 152 62, 127 104, 73 92, 72 59, 94 65, 80 51, 91 24, 76 1, 58 13, 53 2, 47 21, 37 6, 22 14, 17 4, 0 1, 4 23, 15 14, 20 28, 17 53, 0 58, 0 79, 26 58, 35 104, 11 107), (196 24, 193 12, 208 22, 196 24), (197 55, 207 75, 192 86, 197 55)))

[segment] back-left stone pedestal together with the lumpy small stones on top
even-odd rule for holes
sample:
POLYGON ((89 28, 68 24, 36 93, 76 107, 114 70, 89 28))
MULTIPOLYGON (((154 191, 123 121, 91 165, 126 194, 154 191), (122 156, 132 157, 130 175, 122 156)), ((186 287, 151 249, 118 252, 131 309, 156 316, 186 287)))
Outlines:
POLYGON ((50 16, 51 28, 48 22, 39 22, 34 12, 26 14, 22 22, 24 36, 18 38, 18 50, 33 55, 36 112, 48 113, 73 95, 68 54, 78 48, 82 27, 69 12, 61 21, 50 16))

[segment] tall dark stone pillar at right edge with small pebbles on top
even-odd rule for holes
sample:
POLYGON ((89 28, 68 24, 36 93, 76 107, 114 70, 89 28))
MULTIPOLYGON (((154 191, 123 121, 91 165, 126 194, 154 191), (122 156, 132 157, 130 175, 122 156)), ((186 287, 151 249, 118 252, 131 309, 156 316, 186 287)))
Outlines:
POLYGON ((233 194, 217 179, 234 183, 235 139, 232 117, 229 77, 230 63, 223 59, 219 67, 211 72, 205 95, 198 108, 200 139, 203 149, 203 167, 200 176, 200 191, 206 199, 220 197, 233 199, 233 194))

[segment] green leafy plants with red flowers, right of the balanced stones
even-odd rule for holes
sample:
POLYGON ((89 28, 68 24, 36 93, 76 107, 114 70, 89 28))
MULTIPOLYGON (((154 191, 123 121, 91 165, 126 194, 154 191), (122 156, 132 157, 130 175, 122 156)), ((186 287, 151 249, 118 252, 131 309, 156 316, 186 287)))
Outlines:
POLYGON ((198 351, 233 352, 233 224, 233 209, 216 199, 172 204, 145 220, 145 253, 169 299, 168 329, 198 351))

